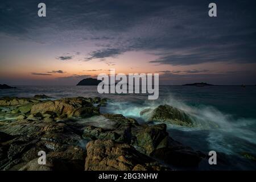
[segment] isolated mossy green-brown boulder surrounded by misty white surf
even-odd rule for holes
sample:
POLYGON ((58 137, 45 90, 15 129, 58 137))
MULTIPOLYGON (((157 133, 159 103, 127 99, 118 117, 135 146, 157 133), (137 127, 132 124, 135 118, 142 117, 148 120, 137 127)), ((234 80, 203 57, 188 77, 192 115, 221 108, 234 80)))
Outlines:
POLYGON ((169 105, 160 105, 154 110, 143 110, 141 111, 141 115, 146 116, 148 121, 166 122, 185 127, 193 127, 196 125, 191 117, 183 110, 169 105))

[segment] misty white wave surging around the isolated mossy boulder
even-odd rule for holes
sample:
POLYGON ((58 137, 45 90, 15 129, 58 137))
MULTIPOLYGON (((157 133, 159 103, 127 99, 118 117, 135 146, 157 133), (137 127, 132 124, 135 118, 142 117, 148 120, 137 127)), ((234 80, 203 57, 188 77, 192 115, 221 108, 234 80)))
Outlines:
POLYGON ((144 118, 140 115, 142 110, 147 108, 154 109, 164 104, 185 111, 199 123, 199 127, 196 128, 167 125, 168 128, 181 131, 208 130, 209 134, 204 140, 208 142, 209 148, 215 148, 226 154, 235 154, 241 152, 241 150, 250 150, 247 147, 236 148, 236 142, 240 143, 239 145, 245 145, 247 143, 248 146, 256 144, 256 119, 235 119, 233 115, 223 113, 216 107, 209 105, 191 106, 182 100, 177 100, 171 94, 156 101, 110 101, 105 111, 108 113, 123 114, 125 117, 133 117, 137 118, 140 122, 145 122, 144 118))

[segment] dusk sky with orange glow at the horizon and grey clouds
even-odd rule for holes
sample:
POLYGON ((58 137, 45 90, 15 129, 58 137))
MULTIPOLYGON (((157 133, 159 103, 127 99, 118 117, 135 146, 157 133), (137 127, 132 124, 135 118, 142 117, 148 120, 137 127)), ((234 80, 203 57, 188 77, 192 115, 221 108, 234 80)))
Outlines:
POLYGON ((0 2, 0 84, 76 85, 111 68, 159 73, 161 85, 255 85, 256 2, 0 2))

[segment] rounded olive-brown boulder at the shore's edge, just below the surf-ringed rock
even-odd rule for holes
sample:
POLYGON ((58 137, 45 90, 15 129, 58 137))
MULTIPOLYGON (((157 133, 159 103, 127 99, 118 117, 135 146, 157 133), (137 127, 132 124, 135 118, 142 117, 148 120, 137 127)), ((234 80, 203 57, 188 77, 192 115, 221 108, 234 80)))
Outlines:
POLYGON ((166 124, 147 126, 136 134, 133 146, 143 154, 150 155, 158 148, 168 146, 166 124))

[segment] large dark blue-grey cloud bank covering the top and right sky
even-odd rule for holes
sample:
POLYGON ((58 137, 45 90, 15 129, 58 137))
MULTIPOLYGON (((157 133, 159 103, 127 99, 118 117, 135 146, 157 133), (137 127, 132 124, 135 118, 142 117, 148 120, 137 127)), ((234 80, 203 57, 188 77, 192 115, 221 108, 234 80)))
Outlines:
POLYGON ((216 18, 208 16, 210 2, 45 0, 47 16, 38 18, 39 1, 10 0, 0 5, 0 32, 38 42, 92 41, 98 48, 84 61, 147 51, 158 56, 152 64, 255 63, 256 1, 216 0, 216 18))

